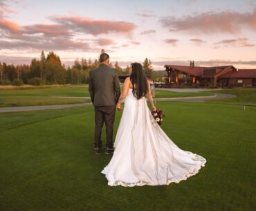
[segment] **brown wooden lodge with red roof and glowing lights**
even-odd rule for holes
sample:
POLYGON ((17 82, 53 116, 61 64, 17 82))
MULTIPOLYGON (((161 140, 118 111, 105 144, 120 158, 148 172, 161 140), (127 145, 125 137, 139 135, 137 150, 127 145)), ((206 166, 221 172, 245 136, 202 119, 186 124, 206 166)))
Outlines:
POLYGON ((164 87, 252 87, 256 86, 256 69, 237 69, 228 66, 165 65, 167 77, 164 87))

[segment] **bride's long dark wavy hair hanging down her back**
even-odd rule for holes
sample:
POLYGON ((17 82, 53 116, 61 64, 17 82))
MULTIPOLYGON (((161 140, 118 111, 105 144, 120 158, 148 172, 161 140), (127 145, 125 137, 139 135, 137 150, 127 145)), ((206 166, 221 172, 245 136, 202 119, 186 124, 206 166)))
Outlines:
POLYGON ((147 78, 140 63, 131 64, 132 93, 138 100, 147 94, 147 78))

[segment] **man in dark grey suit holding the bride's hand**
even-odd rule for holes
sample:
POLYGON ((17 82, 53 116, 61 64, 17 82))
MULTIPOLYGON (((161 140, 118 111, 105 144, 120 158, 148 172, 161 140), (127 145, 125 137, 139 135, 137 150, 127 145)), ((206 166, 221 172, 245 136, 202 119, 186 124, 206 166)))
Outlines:
POLYGON ((113 123, 120 95, 118 74, 109 66, 109 55, 100 55, 100 66, 89 73, 89 93, 95 112, 94 151, 100 154, 101 133, 106 126, 106 154, 113 154, 113 123))

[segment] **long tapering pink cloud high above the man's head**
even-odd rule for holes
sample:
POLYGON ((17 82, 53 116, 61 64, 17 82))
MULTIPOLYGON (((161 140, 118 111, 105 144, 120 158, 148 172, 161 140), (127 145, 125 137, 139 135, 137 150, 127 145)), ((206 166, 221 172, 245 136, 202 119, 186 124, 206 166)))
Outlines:
POLYGON ((66 26, 66 28, 91 35, 130 33, 135 28, 134 24, 126 21, 108 21, 83 17, 52 17, 52 19, 66 26))

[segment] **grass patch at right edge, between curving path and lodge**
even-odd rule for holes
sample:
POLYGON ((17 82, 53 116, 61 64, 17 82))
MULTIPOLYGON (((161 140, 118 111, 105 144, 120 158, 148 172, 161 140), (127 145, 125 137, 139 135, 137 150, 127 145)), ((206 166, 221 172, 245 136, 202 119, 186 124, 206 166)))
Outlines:
POLYGON ((256 104, 256 88, 246 89, 225 89, 221 91, 213 91, 214 93, 226 93, 231 95, 237 95, 237 98, 226 100, 209 100, 210 102, 227 102, 227 103, 253 103, 256 104))

